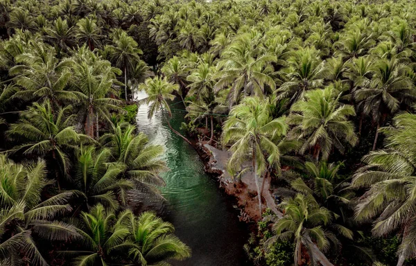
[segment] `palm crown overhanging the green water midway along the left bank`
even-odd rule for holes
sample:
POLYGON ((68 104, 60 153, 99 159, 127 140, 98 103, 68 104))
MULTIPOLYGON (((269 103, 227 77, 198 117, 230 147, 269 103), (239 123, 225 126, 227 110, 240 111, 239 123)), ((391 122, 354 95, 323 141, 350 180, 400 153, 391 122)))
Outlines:
POLYGON ((135 126, 127 123, 117 125, 100 141, 110 148, 116 161, 124 164, 125 177, 139 181, 141 185, 163 186, 165 183, 159 173, 168 170, 166 163, 159 159, 163 147, 149 144, 147 136, 142 132, 135 134, 135 130, 135 126))

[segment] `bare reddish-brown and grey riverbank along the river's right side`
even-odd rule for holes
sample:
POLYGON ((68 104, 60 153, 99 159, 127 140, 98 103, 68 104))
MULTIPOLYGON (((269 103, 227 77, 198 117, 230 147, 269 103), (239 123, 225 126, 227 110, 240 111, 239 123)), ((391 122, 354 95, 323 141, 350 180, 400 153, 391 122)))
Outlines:
MULTIPOLYGON (((205 163, 205 171, 218 175, 220 188, 225 193, 236 199, 236 209, 239 209, 239 220, 242 222, 258 222, 261 220, 259 212, 259 204, 257 199, 257 189, 254 183, 254 172, 249 163, 249 170, 241 175, 241 180, 235 180, 229 172, 227 172, 227 161, 231 154, 226 150, 219 150, 205 142, 193 142, 200 158, 205 163)), ((270 177, 264 180, 263 193, 261 195, 263 204, 262 212, 266 208, 274 212, 277 217, 281 218, 283 213, 277 209, 275 199, 270 192, 270 177)))

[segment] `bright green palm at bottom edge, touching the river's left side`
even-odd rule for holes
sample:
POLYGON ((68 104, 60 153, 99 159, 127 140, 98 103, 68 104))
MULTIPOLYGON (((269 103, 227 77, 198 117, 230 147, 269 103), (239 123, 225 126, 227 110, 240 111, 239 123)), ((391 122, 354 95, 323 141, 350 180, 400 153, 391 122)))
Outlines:
POLYGON ((157 218, 154 213, 131 217, 129 254, 134 265, 168 265, 166 260, 191 257, 191 249, 173 235, 173 225, 157 218))

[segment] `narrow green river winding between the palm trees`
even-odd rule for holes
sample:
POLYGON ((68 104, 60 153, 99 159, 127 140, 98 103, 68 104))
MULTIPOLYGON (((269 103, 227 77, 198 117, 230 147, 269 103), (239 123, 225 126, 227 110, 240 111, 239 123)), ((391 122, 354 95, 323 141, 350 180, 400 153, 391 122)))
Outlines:
MULTIPOLYGON (((145 98, 137 92, 137 99, 145 98)), ((175 100, 177 102, 177 100, 175 100)), ((173 107, 172 107, 173 108, 173 107)), ((171 125, 179 130, 184 121, 183 105, 174 106, 171 125)), ((173 262, 175 266, 243 266, 246 256, 243 245, 248 239, 245 224, 239 222, 229 198, 218 183, 204 171, 196 151, 174 134, 162 114, 147 118, 148 107, 141 105, 137 127, 148 135, 151 143, 163 145, 164 160, 171 169, 162 174, 166 186, 160 188, 166 201, 154 202, 165 220, 173 223, 176 235, 192 249, 188 260, 173 262)))

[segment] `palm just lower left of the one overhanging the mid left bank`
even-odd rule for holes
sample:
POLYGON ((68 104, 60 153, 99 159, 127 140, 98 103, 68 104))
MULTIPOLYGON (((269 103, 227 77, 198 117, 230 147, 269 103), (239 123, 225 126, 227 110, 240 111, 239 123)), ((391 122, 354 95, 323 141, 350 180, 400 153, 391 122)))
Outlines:
POLYGON ((135 186, 120 177, 124 169, 122 163, 111 163, 109 149, 80 148, 73 184, 83 193, 87 208, 97 203, 110 209, 125 205, 126 192, 135 186))

